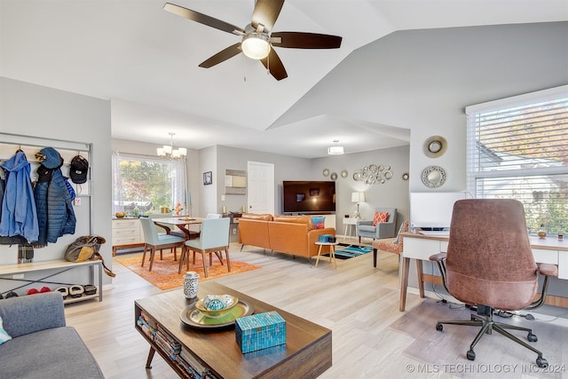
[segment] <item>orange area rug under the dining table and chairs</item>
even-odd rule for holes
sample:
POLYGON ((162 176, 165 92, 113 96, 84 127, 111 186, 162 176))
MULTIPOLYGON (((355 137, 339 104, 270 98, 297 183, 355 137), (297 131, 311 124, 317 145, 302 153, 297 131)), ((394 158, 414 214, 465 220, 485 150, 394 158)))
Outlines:
MULTIPOLYGON (((201 254, 197 254, 195 256, 195 265, 193 265, 193 257, 190 256, 189 270, 185 270, 184 265, 182 272, 177 273, 179 260, 174 262, 173 254, 171 254, 169 251, 164 251, 163 260, 160 260, 160 254, 156 252, 152 271, 148 272, 150 262, 147 261, 147 256, 148 254, 146 254, 146 263, 144 264, 144 267, 140 267, 140 264, 142 263, 141 253, 129 257, 115 257, 114 260, 160 289, 170 289, 183 286, 184 275, 186 271, 197 272, 199 274, 199 281, 204 281, 217 279, 222 276, 233 275, 235 273, 248 272, 260 268, 260 266, 257 265, 250 265, 245 262, 233 261, 233 259, 231 259, 231 272, 227 272, 226 260, 223 259, 223 265, 221 265, 219 259, 216 256, 213 256, 213 265, 207 267, 208 277, 205 278, 205 273, 203 273, 203 265, 201 263, 201 254)), ((177 254, 177 259, 179 259, 179 254, 177 254)), ((209 264, 209 257, 206 257, 206 259, 208 261, 207 263, 209 264)))

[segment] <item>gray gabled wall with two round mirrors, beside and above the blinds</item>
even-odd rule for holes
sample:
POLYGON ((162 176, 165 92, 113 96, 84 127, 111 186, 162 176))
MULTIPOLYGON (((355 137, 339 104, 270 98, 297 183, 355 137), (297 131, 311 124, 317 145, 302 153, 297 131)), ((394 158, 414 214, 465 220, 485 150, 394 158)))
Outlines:
POLYGON ((319 116, 411 130, 410 191, 422 170, 443 167, 445 186, 465 188, 464 108, 568 83, 568 22, 397 31, 353 51, 272 125, 319 116), (422 153, 446 138, 438 159, 422 153))

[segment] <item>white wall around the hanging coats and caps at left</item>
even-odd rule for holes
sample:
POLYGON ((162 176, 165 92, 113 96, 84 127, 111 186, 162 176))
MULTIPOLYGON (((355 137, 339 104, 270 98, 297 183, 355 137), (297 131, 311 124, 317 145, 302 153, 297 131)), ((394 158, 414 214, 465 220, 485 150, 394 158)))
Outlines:
MULTIPOLYGON (((108 241, 101 247, 106 265, 112 266, 111 251, 111 135, 110 102, 31 83, 0 77, 0 130, 4 133, 92 143, 93 233, 108 241)), ((83 210, 83 209, 82 209, 83 210)), ((77 223, 87 222, 78 217, 77 223)), ((84 225, 77 225, 82 230, 84 225)), ((35 260, 64 257, 67 245, 80 235, 65 235, 57 243, 35 250, 35 260)), ((17 263, 17 246, 0 246, 0 265, 17 263)), ((79 270, 77 270, 79 271, 79 270)), ((66 274, 67 275, 67 274, 66 274)), ((105 283, 110 278, 104 276, 105 283)), ((59 277, 58 277, 59 278, 59 277)), ((68 272, 72 283, 87 284, 86 277, 68 272)))

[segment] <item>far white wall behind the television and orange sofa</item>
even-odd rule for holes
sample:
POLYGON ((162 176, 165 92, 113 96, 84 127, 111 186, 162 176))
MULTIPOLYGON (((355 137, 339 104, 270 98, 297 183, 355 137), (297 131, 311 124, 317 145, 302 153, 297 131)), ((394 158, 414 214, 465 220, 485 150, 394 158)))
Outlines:
MULTIPOLYGON (((200 155, 201 162, 204 162, 204 155, 201 154, 201 151, 200 155)), ((367 202, 360 206, 363 217, 371 218, 375 207, 379 206, 397 208, 400 217, 398 224, 408 217, 408 182, 403 181, 401 175, 408 172, 409 146, 329 156, 314 160, 217 146, 217 168, 213 175, 220 182, 215 189, 217 197, 215 199, 208 197, 208 201, 216 201, 216 204, 208 204, 209 207, 213 207, 212 209, 219 212, 221 207, 225 205, 227 210, 238 212, 243 205, 246 205, 247 196, 226 195, 225 201, 221 201, 221 196, 224 194, 223 175, 225 170, 247 170, 248 161, 274 164, 274 209, 276 209, 276 213, 282 212, 281 184, 283 180, 330 180, 329 177, 325 178, 322 174, 323 169, 328 169, 332 172, 335 171, 338 175, 335 188, 337 193, 335 213, 339 215, 336 224, 338 230, 343 227, 339 218, 343 214, 351 214, 355 207, 351 203, 351 192, 353 191, 365 191, 367 194, 367 202), (353 172, 372 163, 390 166, 393 178, 384 185, 375 186, 365 186, 362 182, 355 182, 352 178, 353 172), (341 178, 342 170, 348 171, 347 178, 341 178)))

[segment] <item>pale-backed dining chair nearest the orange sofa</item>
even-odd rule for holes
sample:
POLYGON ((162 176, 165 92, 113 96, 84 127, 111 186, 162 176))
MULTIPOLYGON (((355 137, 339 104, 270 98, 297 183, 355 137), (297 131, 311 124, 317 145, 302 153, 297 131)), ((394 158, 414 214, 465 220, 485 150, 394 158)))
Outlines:
MULTIPOLYGON (((231 272, 231 261, 229 259, 229 226, 231 220, 229 217, 222 218, 205 218, 201 223, 200 237, 196 240, 185 241, 184 249, 182 249, 181 257, 179 257, 178 273, 181 273, 181 268, 184 265, 189 270, 189 252, 193 252, 193 265, 195 264, 195 253, 201 253, 203 261, 203 272, 207 278, 207 262, 206 254, 221 254, 225 250, 227 260, 228 272, 231 272)), ((220 257, 222 259, 222 256, 220 257)), ((221 260, 221 263, 223 261, 221 260)), ((209 265, 211 260, 209 259, 209 265)))

